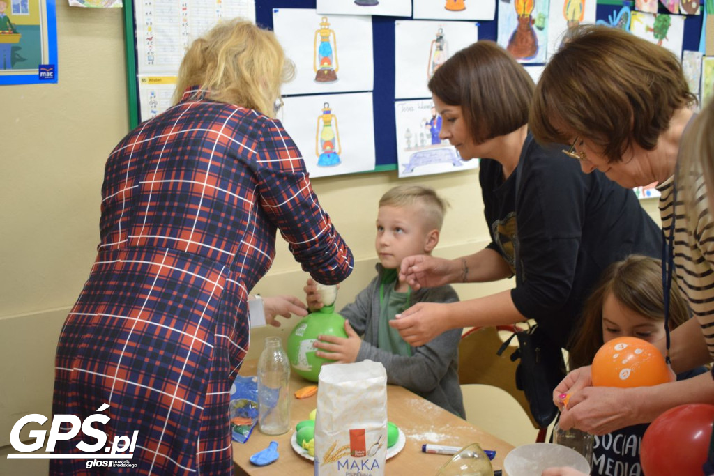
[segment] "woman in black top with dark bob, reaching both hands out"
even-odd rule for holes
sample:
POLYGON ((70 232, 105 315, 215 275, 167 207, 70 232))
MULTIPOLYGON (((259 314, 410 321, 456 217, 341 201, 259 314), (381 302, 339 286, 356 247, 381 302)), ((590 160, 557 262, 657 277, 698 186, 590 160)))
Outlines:
POLYGON ((493 41, 458 51, 428 86, 442 117, 441 138, 462 158, 481 158, 491 243, 452 260, 410 256, 401 274, 416 289, 513 275, 516 282, 461 303, 419 303, 390 324, 411 345, 422 345, 451 328, 533 319, 560 353, 600 273, 632 253, 658 256, 659 229, 633 191, 602 173, 583 175, 560 148, 533 140, 533 80, 493 41))

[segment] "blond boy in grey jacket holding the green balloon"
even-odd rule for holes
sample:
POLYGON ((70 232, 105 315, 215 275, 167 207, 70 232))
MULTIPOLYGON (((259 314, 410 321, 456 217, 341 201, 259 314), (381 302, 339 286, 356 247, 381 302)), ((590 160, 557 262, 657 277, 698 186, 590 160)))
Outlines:
MULTIPOLYGON (((431 254, 439 241, 446 202, 431 188, 397 186, 379 201, 375 248, 380 263, 377 276, 355 301, 340 311, 347 320, 347 338, 320 335, 318 357, 338 363, 365 359, 381 362, 388 383, 401 385, 446 410, 464 417, 458 383, 458 343, 461 329, 449 330, 426 345, 413 348, 388 321, 414 303, 458 301, 450 285, 412 291, 398 280, 402 258, 431 254), (362 338, 360 338, 362 335, 362 338)), ((308 307, 321 308, 316 283, 305 286, 308 307)))

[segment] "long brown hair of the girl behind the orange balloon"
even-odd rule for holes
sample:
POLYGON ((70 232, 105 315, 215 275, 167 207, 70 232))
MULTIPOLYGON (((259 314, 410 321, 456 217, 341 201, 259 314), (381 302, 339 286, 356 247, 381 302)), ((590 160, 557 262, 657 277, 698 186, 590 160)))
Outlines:
MULTIPOLYGON (((664 320, 664 291, 662 287, 661 260, 643 255, 630 255, 610 264, 598 285, 585 301, 582 325, 571 337, 570 368, 593 363, 598 349, 603 345, 603 303, 610 293, 626 308, 652 320, 664 320)), ((687 305, 673 283, 670 289, 670 330, 689 318, 687 305)))

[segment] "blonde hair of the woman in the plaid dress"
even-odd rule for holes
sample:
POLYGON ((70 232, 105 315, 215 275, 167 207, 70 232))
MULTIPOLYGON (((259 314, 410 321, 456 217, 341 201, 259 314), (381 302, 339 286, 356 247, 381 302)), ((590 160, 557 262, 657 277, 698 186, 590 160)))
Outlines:
POLYGON ((186 88, 198 86, 211 101, 273 117, 281 84, 293 75, 293 63, 272 31, 241 19, 221 21, 188 47, 178 69, 174 103, 186 88))

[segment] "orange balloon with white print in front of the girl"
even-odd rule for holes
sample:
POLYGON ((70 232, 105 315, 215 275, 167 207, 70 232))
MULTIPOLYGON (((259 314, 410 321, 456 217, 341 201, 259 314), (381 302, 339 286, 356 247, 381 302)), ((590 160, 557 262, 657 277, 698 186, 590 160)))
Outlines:
POLYGON ((670 381, 665 358, 646 340, 619 337, 605 343, 593 359, 596 387, 649 387, 670 381))

